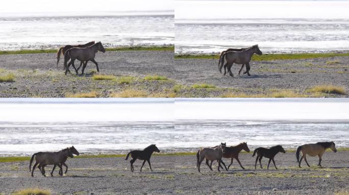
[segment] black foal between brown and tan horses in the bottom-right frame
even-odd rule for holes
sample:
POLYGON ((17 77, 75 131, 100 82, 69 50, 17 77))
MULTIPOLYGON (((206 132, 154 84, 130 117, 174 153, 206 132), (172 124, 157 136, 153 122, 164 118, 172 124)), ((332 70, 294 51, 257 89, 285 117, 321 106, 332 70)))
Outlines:
POLYGON ((255 149, 255 151, 253 152, 253 155, 252 155, 252 156, 255 156, 255 154, 257 153, 255 169, 257 169, 256 166, 257 166, 258 159, 259 159, 259 164, 261 165, 261 169, 263 169, 262 164, 261 164, 261 160, 262 160, 263 156, 266 158, 269 158, 268 169, 269 169, 269 164, 270 164, 271 160, 272 160, 272 163, 274 164, 275 169, 278 169, 275 165, 274 157, 279 152, 286 153, 284 148, 280 145, 270 147, 269 149, 263 148, 263 147, 255 149))

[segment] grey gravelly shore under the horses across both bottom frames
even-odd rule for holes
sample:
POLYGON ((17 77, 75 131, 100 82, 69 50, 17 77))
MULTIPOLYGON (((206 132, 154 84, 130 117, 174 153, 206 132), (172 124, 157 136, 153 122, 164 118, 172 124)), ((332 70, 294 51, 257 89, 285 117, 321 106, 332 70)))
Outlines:
MULTIPOLYGON (((235 161, 231 170, 210 171, 202 164, 202 173, 195 168, 194 155, 153 156, 154 172, 145 165, 139 173, 141 161, 135 163, 131 173, 129 160, 123 158, 73 158, 68 159, 69 171, 63 177, 43 177, 38 170, 34 178, 28 171, 29 162, 0 164, 0 192, 9 194, 14 190, 40 187, 53 194, 333 194, 349 190, 349 152, 327 152, 323 156, 323 169, 315 167, 317 157, 308 158, 314 166, 296 167, 294 153, 279 153, 273 167, 266 170, 267 159, 262 160, 264 169, 254 169, 252 153, 240 154, 246 170, 235 161), (92 193, 91 193, 92 192, 92 193)), ((223 159, 226 164, 229 159, 223 159)))

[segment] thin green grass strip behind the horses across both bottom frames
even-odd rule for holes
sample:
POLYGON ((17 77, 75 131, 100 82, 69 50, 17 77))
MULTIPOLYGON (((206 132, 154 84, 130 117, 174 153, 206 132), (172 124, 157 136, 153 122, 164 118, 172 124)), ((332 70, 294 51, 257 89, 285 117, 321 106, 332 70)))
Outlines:
MULTIPOLYGON (((328 149, 327 152, 332 152, 332 150, 328 149)), ((349 147, 337 148, 337 151, 349 151, 349 147)), ((242 153, 246 153, 245 151, 241 151, 242 153)), ((253 150, 251 149, 251 152, 253 150)), ((295 152, 295 149, 288 148, 286 152, 292 153, 295 152)), ((155 156, 186 156, 186 155, 195 155, 196 152, 173 152, 173 153, 154 153, 155 156)), ((126 157, 126 154, 82 154, 79 156, 74 156, 74 158, 117 158, 117 157, 126 157)), ((0 157, 0 163, 12 163, 18 161, 28 161, 31 156, 4 156, 0 157)))

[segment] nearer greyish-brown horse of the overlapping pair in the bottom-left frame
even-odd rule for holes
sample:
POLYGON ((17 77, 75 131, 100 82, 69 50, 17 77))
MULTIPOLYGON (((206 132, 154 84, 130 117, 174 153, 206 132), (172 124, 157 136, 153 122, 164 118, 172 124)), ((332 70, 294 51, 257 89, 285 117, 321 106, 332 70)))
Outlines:
MULTIPOLYGON (((54 168, 56 168, 56 166, 58 166, 60 169, 62 169, 62 166, 60 164, 61 164, 62 160, 67 156, 69 156, 71 158, 74 157, 69 148, 63 149, 59 152, 37 152, 37 153, 33 154, 32 158, 30 159, 29 171, 31 171, 31 166, 33 163, 33 159, 35 157, 35 164, 34 164, 33 170, 32 170, 32 177, 34 177, 34 175, 33 175, 34 170, 38 164, 41 167, 41 170, 40 170, 41 174, 46 177, 45 166, 46 165, 54 165, 54 168)), ((51 172, 51 176, 53 176, 53 171, 51 172)))

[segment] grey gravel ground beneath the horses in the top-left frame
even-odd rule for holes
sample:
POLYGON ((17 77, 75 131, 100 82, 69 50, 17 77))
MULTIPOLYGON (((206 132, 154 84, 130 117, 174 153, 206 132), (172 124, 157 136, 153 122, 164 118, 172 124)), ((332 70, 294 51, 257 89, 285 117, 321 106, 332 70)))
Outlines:
MULTIPOLYGON (((160 75, 167 78, 173 76, 172 51, 107 51, 98 52, 95 60, 101 74, 115 76, 134 76, 143 78, 145 75, 160 75)), ((108 96, 109 91, 119 91, 127 88, 111 81, 94 81, 91 71, 95 65, 88 62, 86 76, 75 74, 64 75, 63 61, 56 67, 55 53, 0 55, 0 75, 15 74, 15 82, 0 82, 1 98, 45 97, 60 98, 67 93, 90 92, 95 90, 101 96, 108 96)), ((79 66, 80 62, 76 61, 79 66)), ((73 68, 70 67, 73 71, 73 68)), ((80 69, 81 73, 81 69, 80 69)), ((170 88, 167 83, 135 82, 133 88, 148 92, 162 92, 170 88)))

